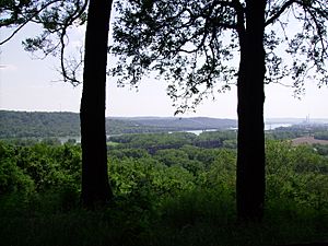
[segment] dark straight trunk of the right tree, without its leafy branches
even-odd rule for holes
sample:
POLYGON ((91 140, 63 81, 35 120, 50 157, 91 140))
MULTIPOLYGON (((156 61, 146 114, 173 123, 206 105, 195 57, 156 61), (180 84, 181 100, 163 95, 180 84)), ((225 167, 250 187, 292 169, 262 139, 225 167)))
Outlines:
POLYGON ((246 28, 239 33, 237 215, 260 220, 263 214, 265 132, 263 32, 266 0, 246 1, 246 28))

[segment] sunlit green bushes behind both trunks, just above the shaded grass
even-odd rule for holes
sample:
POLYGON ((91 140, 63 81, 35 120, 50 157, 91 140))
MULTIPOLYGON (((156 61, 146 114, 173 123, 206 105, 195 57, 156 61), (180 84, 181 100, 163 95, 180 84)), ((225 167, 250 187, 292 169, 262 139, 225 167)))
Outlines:
MULTIPOLYGON (((0 150, 1 194, 42 194, 62 187, 80 190, 80 147, 1 142, 0 150)), ((159 150, 153 155, 145 150, 117 149, 109 152, 110 183, 116 196, 126 198, 151 200, 196 187, 234 196, 235 162, 236 152, 229 149, 184 145, 159 150)), ((328 202, 327 174, 328 160, 316 149, 267 141, 268 198, 282 196, 324 208, 328 202)))

